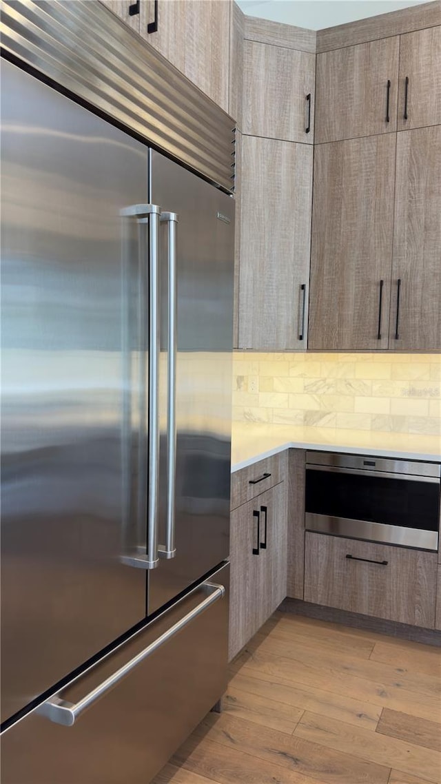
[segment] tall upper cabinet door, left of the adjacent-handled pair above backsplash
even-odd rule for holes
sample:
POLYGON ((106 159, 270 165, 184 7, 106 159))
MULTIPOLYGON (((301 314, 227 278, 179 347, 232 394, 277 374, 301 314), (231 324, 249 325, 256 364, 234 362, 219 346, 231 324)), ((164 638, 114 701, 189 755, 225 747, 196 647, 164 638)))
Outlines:
POLYGON ((388 133, 315 147, 313 350, 388 348, 395 139, 388 133))

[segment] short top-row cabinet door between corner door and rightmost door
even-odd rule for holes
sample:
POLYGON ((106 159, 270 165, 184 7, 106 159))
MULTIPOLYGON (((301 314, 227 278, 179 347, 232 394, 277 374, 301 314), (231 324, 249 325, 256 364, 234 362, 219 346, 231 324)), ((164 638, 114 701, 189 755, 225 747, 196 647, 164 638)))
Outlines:
POLYGON ((398 35, 317 55, 315 143, 396 130, 398 58, 398 35))

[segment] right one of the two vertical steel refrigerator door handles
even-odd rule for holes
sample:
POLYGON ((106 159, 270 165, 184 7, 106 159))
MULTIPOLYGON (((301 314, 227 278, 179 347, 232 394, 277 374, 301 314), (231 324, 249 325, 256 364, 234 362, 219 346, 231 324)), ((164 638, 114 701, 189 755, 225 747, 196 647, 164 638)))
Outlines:
POLYGON ((174 558, 176 496, 176 361, 177 361, 177 223, 176 212, 162 212, 160 221, 168 228, 167 299, 167 511, 166 544, 159 545, 159 557, 174 558))

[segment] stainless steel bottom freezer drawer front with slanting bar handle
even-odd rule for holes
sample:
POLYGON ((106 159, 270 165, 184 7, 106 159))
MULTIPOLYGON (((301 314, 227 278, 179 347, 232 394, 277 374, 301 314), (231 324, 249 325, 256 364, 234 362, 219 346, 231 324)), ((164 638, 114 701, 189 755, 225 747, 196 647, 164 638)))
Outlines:
POLYGON ((228 581, 226 565, 51 698, 55 706, 57 698, 71 705, 64 716, 53 711, 66 724, 74 719, 71 726, 42 715, 50 713, 46 702, 5 731, 2 784, 148 784, 226 686, 228 581), (173 633, 177 624, 182 627, 173 633), (162 644, 142 659, 162 635, 162 644), (125 666, 129 672, 112 684, 125 666), (82 711, 107 679, 109 689, 82 711))

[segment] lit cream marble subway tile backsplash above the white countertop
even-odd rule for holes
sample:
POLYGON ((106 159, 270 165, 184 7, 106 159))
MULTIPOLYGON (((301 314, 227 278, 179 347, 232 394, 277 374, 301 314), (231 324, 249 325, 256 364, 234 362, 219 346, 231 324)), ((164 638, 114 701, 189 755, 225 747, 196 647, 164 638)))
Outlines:
POLYGON ((441 435, 441 355, 235 351, 233 419, 441 435))

